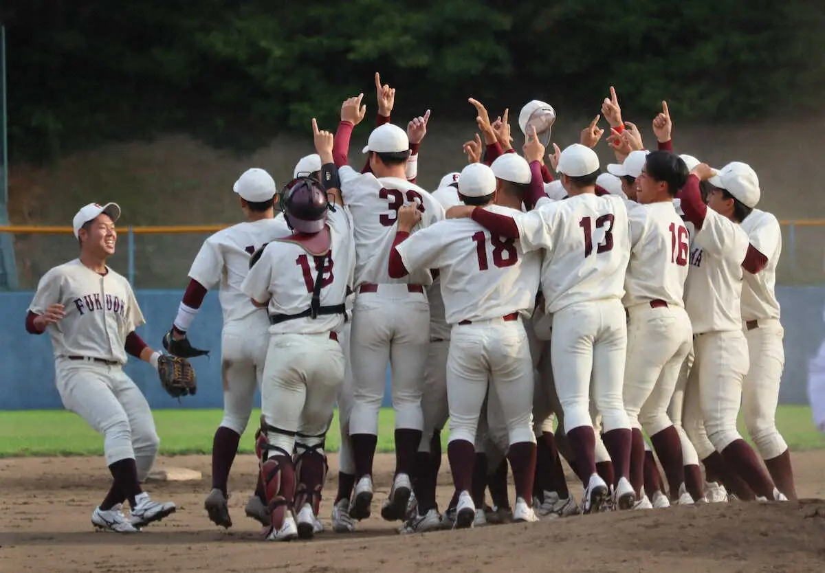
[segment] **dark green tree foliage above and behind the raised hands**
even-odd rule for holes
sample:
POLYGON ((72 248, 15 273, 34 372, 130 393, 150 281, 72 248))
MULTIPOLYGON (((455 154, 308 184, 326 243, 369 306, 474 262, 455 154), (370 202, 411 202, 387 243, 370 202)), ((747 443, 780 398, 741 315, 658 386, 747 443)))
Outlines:
MULTIPOLYGON (((27 0, 3 8, 12 159, 183 130, 250 148, 372 76, 398 110, 471 119, 468 96, 739 120, 818 103, 819 0, 27 0)), ((577 109, 578 108, 578 109, 577 109)))

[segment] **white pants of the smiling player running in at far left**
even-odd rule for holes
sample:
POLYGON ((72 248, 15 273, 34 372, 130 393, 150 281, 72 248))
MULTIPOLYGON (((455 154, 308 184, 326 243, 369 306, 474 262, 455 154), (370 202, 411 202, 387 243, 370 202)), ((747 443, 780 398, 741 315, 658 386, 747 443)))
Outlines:
POLYGON ((160 438, 139 387, 120 365, 59 358, 54 368, 66 410, 103 435, 106 465, 134 458, 138 479, 144 481, 158 455, 160 438))

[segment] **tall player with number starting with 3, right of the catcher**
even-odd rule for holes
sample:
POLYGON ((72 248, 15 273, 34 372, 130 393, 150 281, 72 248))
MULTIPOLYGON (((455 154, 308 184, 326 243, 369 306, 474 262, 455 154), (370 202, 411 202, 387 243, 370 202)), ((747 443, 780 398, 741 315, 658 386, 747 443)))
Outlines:
POLYGON ((389 500, 381 510, 387 520, 404 519, 412 494, 410 473, 422 437, 422 380, 430 341, 429 270, 403 279, 387 275, 389 247, 395 237, 398 209, 416 204, 422 227, 444 217, 431 195, 407 180, 412 143, 426 134, 426 122, 408 126, 382 124, 370 134, 364 153, 370 170, 357 173, 347 165, 353 127, 364 119, 363 94, 344 102, 335 138, 335 163, 340 169, 342 196, 355 221, 356 271, 352 310, 351 358, 354 380, 350 436, 356 466, 351 517, 370 515, 372 466, 378 441, 378 413, 384 396, 389 361, 395 411, 396 467, 389 500))

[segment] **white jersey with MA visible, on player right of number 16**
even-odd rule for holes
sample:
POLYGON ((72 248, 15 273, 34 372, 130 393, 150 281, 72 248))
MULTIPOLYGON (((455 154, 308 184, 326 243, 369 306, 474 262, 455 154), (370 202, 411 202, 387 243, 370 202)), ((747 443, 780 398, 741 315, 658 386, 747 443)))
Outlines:
POLYGON ((698 232, 691 228, 691 268, 685 281, 685 309, 693 333, 741 331, 742 261, 747 233, 708 209, 698 232))

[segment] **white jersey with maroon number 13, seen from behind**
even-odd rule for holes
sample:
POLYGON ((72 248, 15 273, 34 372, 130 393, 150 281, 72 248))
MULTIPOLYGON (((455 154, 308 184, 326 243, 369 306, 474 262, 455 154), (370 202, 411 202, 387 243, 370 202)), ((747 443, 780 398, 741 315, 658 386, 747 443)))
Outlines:
POLYGON ((570 304, 622 298, 630 238, 625 203, 614 195, 540 201, 515 217, 521 248, 545 249, 541 292, 552 314, 570 304))

